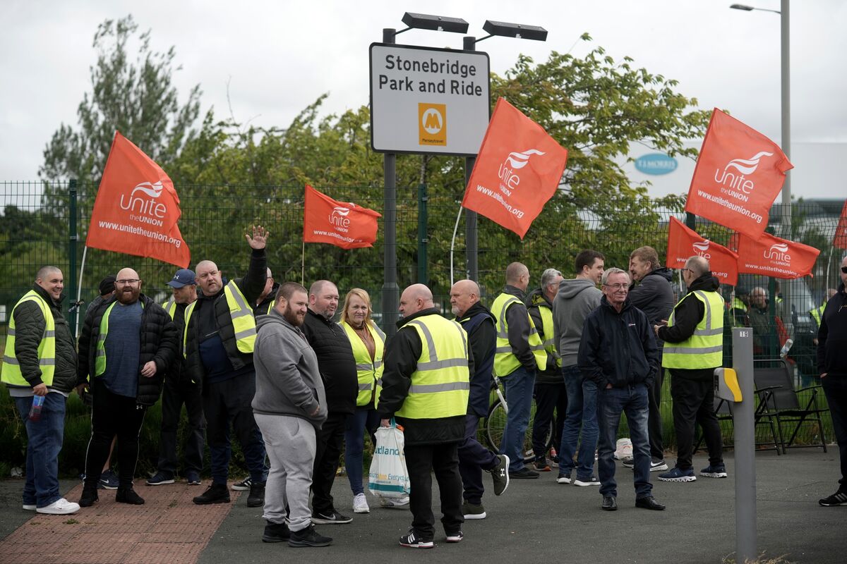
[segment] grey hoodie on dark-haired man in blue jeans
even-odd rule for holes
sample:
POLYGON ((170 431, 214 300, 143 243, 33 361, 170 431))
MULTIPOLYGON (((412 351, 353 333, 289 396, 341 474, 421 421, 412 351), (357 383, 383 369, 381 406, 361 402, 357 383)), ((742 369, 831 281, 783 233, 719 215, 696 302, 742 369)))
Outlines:
POLYGON ((585 318, 597 309, 602 296, 595 283, 585 278, 559 282, 559 291, 553 299, 553 338, 562 357, 562 367, 577 364, 585 318))

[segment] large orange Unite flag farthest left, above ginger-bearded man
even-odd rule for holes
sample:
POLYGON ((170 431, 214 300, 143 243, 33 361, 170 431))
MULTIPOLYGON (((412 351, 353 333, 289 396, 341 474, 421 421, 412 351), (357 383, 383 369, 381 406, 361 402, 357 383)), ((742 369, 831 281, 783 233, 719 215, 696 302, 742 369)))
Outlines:
POLYGON ((180 197, 168 175, 118 131, 91 211, 86 246, 147 256, 187 268, 180 197))

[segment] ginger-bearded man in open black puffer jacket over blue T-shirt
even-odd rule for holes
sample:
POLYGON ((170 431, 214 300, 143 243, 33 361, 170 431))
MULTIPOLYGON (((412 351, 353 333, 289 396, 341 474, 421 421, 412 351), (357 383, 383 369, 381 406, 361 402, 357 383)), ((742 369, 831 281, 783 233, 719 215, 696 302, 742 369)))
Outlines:
POLYGON ((80 506, 90 507, 97 501, 97 483, 115 435, 119 465, 115 501, 141 505, 144 500, 132 489, 138 433, 178 353, 176 327, 162 306, 141 293, 138 273, 125 268, 118 272, 115 297, 86 315, 79 344, 78 392, 88 387, 92 397, 80 506))

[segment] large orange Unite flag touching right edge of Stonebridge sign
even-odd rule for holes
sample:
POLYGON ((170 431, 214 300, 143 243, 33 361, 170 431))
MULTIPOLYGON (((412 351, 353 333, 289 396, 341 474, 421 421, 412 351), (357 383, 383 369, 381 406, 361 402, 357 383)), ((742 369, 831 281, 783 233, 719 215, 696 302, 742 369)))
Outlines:
POLYGON ((567 150, 503 98, 485 131, 462 206, 526 235, 556 194, 567 150))

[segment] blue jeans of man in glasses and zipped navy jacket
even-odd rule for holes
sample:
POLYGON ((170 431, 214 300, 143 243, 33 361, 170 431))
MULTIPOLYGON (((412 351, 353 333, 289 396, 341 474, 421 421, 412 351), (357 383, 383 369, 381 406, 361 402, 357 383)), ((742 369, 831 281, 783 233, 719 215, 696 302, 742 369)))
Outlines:
POLYGON ((647 435, 650 408, 647 395, 647 386, 635 384, 601 390, 597 397, 597 420, 600 424, 600 457, 597 460, 597 469, 600 471, 600 493, 603 496, 617 496, 614 452, 621 412, 627 415, 629 435, 633 441, 635 498, 652 495, 650 439, 647 435))

